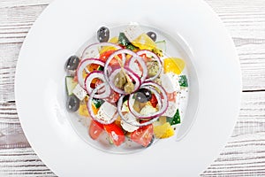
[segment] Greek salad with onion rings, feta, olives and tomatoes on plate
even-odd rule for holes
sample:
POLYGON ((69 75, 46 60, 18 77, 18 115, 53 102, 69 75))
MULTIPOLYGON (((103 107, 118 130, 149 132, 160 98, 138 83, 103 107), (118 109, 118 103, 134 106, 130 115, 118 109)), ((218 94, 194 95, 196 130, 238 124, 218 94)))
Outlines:
POLYGON ((101 27, 98 42, 67 59, 66 109, 88 119, 88 135, 107 133, 113 146, 127 141, 148 147, 170 138, 181 122, 180 92, 187 89, 181 58, 169 57, 166 41, 129 25, 117 36, 101 27))

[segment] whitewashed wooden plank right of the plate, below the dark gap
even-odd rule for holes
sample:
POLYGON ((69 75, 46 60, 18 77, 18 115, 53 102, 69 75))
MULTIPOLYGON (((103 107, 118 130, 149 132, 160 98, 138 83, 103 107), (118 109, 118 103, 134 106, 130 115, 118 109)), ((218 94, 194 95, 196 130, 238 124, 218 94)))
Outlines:
POLYGON ((265 92, 242 94, 237 125, 202 176, 265 176, 265 92))

